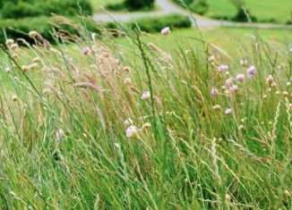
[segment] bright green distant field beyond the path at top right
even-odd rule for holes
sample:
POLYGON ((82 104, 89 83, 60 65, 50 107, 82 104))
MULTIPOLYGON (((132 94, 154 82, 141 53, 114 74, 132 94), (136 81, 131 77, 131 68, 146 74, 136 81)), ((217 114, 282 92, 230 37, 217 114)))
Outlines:
MULTIPOLYGON (((209 17, 233 17, 236 7, 229 0, 208 0, 209 17)), ((245 7, 258 21, 287 22, 291 20, 291 0, 245 0, 245 7)))

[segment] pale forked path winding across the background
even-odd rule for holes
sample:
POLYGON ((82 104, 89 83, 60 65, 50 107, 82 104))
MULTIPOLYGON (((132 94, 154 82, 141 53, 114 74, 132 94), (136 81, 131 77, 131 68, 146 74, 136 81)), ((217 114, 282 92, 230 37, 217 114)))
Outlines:
MULTIPOLYGON (((154 12, 137 12, 137 13, 98 13, 93 15, 94 21, 131 21, 138 18, 144 17, 155 17, 155 16, 164 16, 171 13, 178 13, 185 15, 190 20, 193 20, 190 13, 185 11, 183 8, 179 7, 176 4, 173 4, 170 0, 156 0, 156 4, 159 7, 159 11, 154 12)), ((292 29, 291 25, 285 24, 273 24, 273 23, 254 23, 253 26, 250 23, 241 23, 241 22, 232 22, 232 21, 219 21, 205 18, 199 15, 194 15, 193 18, 196 21, 196 24, 199 28, 211 28, 211 27, 241 27, 241 28, 250 28, 255 27, 259 29, 292 29)), ((193 26, 195 26, 193 22, 193 26)))

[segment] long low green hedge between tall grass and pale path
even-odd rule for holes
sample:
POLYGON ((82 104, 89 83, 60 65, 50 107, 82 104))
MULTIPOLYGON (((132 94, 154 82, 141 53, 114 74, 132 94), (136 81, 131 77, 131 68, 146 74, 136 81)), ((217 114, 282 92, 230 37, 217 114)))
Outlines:
MULTIPOLYGON (((71 19, 73 23, 82 24, 80 19, 71 19)), ((86 21, 86 28, 92 32, 100 33, 98 24, 94 21, 86 21)), ((171 28, 189 28, 192 26, 189 21, 183 15, 171 14, 163 17, 143 18, 136 20, 135 22, 126 23, 131 28, 136 27, 136 23, 140 29, 146 32, 159 32, 164 27, 171 28)), ((5 42, 4 32, 7 38, 25 38, 26 40, 33 41, 29 38, 28 34, 31 30, 36 30, 43 38, 46 38, 49 42, 54 43, 54 39, 51 35, 54 25, 60 25, 60 21, 57 21, 55 17, 40 16, 38 18, 23 18, 20 20, 0 20, 0 43, 5 42)), ((106 28, 116 29, 116 23, 109 22, 105 24, 106 28)), ((70 24, 62 24, 62 29, 67 30, 70 34, 80 35, 80 30, 70 26, 70 24)))

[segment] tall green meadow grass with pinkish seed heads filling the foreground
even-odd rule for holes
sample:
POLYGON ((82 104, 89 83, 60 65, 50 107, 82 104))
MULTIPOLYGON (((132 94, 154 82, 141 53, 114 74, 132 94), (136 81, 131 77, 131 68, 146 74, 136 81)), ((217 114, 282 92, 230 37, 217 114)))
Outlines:
POLYGON ((256 37, 243 67, 202 40, 169 54, 122 30, 126 46, 84 31, 3 48, 0 206, 291 209, 292 54, 256 37))

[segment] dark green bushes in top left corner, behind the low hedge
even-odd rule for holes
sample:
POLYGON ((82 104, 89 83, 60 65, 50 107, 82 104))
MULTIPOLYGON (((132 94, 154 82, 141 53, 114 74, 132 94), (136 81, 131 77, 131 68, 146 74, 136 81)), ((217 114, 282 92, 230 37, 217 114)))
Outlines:
MULTIPOLYGON (((0 0, 1 1, 1 0, 0 0)), ((3 1, 0 3, 2 18, 20 19, 33 16, 50 16, 51 13, 63 16, 74 16, 80 13, 80 8, 75 0, 26 0, 26 1, 3 1)), ((88 0, 81 0, 82 13, 92 14, 92 8, 88 0)))

